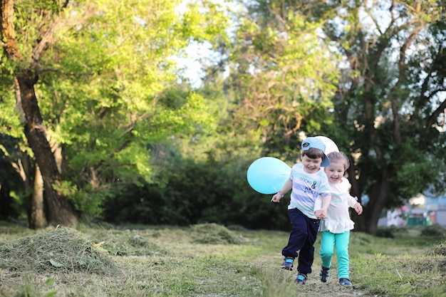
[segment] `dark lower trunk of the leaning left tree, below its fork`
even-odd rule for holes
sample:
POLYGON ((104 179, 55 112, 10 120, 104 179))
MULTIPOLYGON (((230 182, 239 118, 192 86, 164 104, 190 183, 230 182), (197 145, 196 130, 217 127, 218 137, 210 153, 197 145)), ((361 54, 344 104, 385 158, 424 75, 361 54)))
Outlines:
POLYGON ((61 174, 58 172, 56 160, 46 138, 46 130, 38 108, 34 92, 37 80, 37 75, 26 70, 17 77, 16 83, 20 90, 21 108, 26 119, 24 132, 43 178, 43 187, 48 203, 48 224, 55 226, 77 224, 76 209, 68 197, 57 190, 61 186, 61 174))

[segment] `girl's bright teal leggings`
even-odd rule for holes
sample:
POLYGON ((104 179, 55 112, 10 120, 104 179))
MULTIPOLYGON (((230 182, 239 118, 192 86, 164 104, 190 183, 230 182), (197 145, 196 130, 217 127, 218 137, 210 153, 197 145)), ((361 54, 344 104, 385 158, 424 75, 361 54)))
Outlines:
POLYGON ((338 257, 338 278, 348 278, 348 268, 350 261, 348 259, 348 241, 350 240, 350 231, 341 234, 334 234, 330 231, 321 232, 321 256, 322 266, 331 268, 331 256, 333 256, 336 247, 336 256, 338 257))

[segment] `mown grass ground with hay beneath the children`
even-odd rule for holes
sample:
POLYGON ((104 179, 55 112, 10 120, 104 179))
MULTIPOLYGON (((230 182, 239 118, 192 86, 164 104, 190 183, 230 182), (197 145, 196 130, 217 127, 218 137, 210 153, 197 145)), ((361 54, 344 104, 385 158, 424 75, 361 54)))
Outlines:
POLYGON ((200 224, 32 231, 0 223, 0 296, 446 296, 445 229, 392 228, 389 238, 352 232, 351 279, 336 256, 318 281, 319 241, 306 286, 284 271, 284 231, 200 224))

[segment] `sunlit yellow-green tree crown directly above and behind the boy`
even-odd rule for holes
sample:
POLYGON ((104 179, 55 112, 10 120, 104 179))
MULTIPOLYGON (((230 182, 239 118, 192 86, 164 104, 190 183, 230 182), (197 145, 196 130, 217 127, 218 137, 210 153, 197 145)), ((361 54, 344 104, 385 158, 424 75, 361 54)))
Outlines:
POLYGON ((299 1, 249 1, 229 56, 226 93, 233 135, 251 135, 264 155, 299 155, 301 133, 329 125, 338 70, 321 36, 323 21, 301 14, 299 1))

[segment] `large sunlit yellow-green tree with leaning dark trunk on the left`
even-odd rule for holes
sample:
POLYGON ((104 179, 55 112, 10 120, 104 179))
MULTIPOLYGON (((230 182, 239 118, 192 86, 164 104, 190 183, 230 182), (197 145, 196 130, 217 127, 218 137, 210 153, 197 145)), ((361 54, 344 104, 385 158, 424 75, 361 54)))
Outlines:
POLYGON ((50 224, 100 212, 117 182, 150 182, 151 143, 212 121, 201 96, 175 93, 174 58, 191 41, 223 42, 227 18, 212 1, 180 14, 178 5, 2 2, 2 58, 16 81, 50 224), (23 13, 14 22, 13 11, 23 13))

